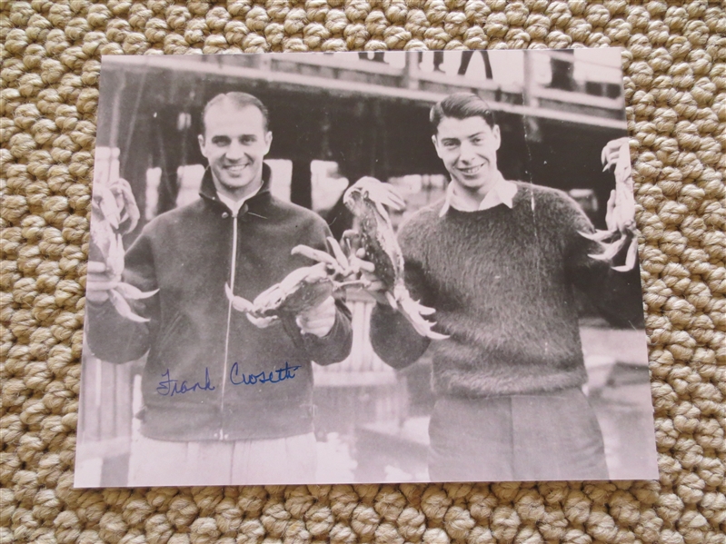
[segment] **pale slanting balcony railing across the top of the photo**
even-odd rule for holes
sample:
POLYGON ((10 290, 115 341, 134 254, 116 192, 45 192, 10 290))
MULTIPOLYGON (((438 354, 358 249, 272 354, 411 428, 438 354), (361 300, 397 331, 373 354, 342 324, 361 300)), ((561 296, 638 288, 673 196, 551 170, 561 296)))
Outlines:
POLYGON ((445 57, 443 52, 378 52, 378 57, 373 57, 377 60, 350 53, 220 54, 188 55, 184 58, 109 56, 104 57, 104 69, 124 66, 130 70, 169 70, 211 77, 245 78, 314 92, 363 94, 426 104, 438 102, 447 94, 467 91, 482 95, 492 103, 493 109, 506 113, 625 128, 619 84, 619 50, 588 50, 587 56, 575 53, 498 51, 488 54, 488 58, 496 59, 492 64, 497 64, 493 66, 491 79, 482 77, 482 71, 478 70, 459 74, 464 52, 460 56, 456 56, 458 52, 446 52, 448 56, 445 57), (432 64, 428 62, 432 55, 441 56, 434 57, 432 64), (563 77, 569 84, 554 81, 552 66, 557 63, 565 66, 563 77), (544 67, 544 73, 547 69, 551 71, 549 83, 546 77, 544 82, 538 78, 535 65, 538 69, 544 67), (582 84, 572 79, 576 69, 584 74, 582 81, 585 83, 592 74, 608 74, 599 81, 610 84, 618 95, 587 93, 582 84), (618 84, 615 84, 616 80, 618 84))

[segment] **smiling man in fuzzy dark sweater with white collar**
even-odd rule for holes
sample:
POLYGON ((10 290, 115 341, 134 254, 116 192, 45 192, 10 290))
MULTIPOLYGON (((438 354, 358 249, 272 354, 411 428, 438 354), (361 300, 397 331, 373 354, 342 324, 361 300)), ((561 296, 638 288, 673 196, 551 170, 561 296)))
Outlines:
POLYGON ((394 368, 431 344, 430 478, 607 479, 582 393, 574 288, 606 306, 628 278, 588 256, 602 248, 582 236, 592 224, 570 197, 502 177, 499 126, 479 97, 453 94, 431 121, 451 183, 443 203, 403 224, 399 242, 407 287, 449 338, 423 338, 383 297, 371 320, 373 349, 394 368))

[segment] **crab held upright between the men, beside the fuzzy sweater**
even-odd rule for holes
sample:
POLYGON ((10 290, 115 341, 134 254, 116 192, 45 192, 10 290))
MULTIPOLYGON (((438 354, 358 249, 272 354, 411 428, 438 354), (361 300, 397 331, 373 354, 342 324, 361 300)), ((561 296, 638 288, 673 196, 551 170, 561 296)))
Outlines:
POLYGON ((414 301, 403 282, 403 252, 385 209, 388 206, 396 211, 403 210, 403 198, 388 183, 363 177, 344 193, 343 203, 359 220, 359 230, 345 232, 343 239, 358 242, 364 252, 363 259, 373 262, 375 275, 383 282, 386 301, 400 310, 422 336, 433 340, 448 338, 433 331, 436 323, 423 317, 432 315, 435 310, 414 301))

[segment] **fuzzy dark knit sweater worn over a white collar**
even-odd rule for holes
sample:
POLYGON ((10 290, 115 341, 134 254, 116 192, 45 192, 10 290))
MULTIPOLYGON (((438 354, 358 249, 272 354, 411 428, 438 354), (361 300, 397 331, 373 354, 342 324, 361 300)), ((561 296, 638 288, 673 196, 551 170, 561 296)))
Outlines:
MULTIPOLYGON (((399 242, 413 298, 435 308, 433 390, 486 397, 579 387, 587 379, 574 289, 612 305, 626 274, 589 253, 580 232, 592 223, 561 191, 517 183, 512 209, 424 208, 403 224, 399 242), (613 288, 614 287, 614 288, 613 288)), ((639 286, 638 286, 639 288, 639 286)), ((617 302, 622 305, 622 302, 617 302)), ((641 302, 625 309, 641 313, 641 302)), ((416 361, 430 341, 389 307, 377 305, 371 340, 395 368, 416 361)))

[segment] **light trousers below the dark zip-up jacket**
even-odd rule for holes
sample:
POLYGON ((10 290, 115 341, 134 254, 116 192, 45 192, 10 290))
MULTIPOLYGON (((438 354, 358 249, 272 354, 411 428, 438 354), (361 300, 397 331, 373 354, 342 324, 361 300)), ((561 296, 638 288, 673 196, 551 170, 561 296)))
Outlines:
POLYGON ((272 440, 174 442, 137 433, 132 487, 311 483, 317 466, 310 432, 272 440))

